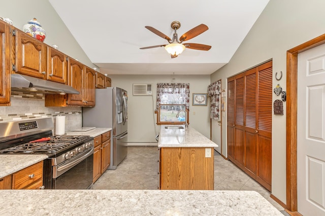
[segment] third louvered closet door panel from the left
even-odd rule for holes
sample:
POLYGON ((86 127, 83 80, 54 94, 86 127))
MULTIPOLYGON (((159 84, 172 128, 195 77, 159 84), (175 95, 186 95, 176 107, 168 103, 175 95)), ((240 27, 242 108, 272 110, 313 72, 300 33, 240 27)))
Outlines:
POLYGON ((245 172, 256 179, 257 118, 256 68, 245 73, 245 172))

